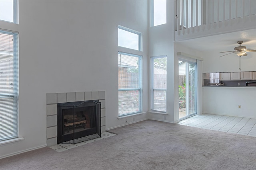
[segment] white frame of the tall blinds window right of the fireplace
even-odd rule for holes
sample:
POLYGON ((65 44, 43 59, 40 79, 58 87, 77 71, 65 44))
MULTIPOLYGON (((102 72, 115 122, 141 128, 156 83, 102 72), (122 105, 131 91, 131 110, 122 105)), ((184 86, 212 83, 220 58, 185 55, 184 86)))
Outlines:
MULTIPOLYGON (((142 112, 142 55, 137 55, 137 54, 132 54, 132 53, 126 53, 126 52, 122 52, 122 51, 118 51, 118 65, 119 65, 119 55, 128 55, 128 56, 132 56, 132 57, 138 57, 138 88, 119 88, 118 87, 118 117, 123 117, 123 116, 127 116, 127 115, 133 115, 136 113, 140 113, 142 112), (138 111, 136 112, 131 112, 131 113, 124 113, 124 114, 120 114, 119 113, 119 92, 120 91, 134 91, 134 90, 138 90, 138 111)), ((118 66, 119 67, 119 66, 118 66)), ((118 79, 119 79, 119 73, 118 73, 118 79)), ((119 83, 119 81, 118 81, 119 83)), ((118 84, 119 86, 119 84, 118 84)))

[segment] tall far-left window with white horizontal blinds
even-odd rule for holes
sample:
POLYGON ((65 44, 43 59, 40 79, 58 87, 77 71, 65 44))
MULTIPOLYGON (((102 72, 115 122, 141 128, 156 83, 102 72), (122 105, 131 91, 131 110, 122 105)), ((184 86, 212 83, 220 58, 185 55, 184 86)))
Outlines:
POLYGON ((0 30, 0 141, 18 137, 18 33, 0 30))

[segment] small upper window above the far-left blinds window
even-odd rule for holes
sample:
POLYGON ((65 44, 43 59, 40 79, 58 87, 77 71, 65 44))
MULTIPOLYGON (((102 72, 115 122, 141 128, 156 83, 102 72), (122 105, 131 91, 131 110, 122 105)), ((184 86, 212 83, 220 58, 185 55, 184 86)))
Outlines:
POLYGON ((18 0, 0 0, 0 20, 18 23, 18 0))

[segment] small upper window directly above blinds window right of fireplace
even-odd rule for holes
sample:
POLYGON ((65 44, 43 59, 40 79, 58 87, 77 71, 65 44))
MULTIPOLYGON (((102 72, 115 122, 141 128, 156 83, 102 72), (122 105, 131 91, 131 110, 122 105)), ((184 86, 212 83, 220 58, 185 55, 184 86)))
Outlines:
POLYGON ((118 26, 118 46, 142 51, 142 35, 132 29, 118 26))

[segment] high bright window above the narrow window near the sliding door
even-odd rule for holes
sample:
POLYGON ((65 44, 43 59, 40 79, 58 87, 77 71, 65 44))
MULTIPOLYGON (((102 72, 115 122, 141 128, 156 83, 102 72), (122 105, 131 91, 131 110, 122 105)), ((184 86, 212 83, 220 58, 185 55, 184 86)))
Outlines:
POLYGON ((166 0, 151 0, 152 26, 166 23, 166 0))

